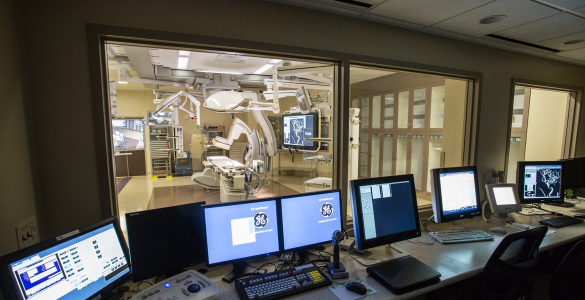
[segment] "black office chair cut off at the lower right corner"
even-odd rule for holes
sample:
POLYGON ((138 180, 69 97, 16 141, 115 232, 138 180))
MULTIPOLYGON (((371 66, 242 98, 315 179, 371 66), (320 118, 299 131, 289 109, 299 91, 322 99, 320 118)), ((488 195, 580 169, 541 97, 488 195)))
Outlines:
POLYGON ((550 275, 551 300, 585 299, 585 240, 575 244, 550 275))

